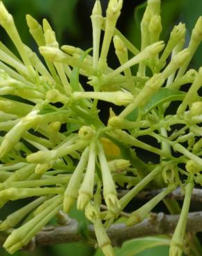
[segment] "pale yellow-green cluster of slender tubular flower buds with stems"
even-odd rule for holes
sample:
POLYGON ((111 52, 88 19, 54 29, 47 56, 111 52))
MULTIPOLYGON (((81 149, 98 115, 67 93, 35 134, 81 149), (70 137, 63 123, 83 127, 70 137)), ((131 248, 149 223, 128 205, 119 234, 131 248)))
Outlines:
POLYGON ((172 209, 165 196, 180 186, 185 199, 178 206, 169 256, 180 256, 185 249, 192 190, 195 183, 202 184, 202 68, 187 70, 202 40, 202 18, 187 48, 182 23, 165 43, 159 41, 160 0, 148 0, 138 50, 116 28, 121 9, 122 0, 109 0, 102 17, 100 1, 95 1, 93 48, 86 51, 60 47, 46 19, 41 26, 27 15, 42 61, 21 41, 12 15, 0 3, 0 24, 19 53, 17 57, 0 42, 0 205, 32 199, 0 224, 0 230, 12 230, 3 244, 11 254, 76 203, 93 223, 104 255, 115 255, 106 228, 151 184, 165 189, 132 212, 126 225, 143 221, 162 200, 172 209), (108 65, 110 44, 120 62, 116 69, 108 65), (88 91, 80 76, 87 77, 88 91), (184 84, 187 93, 181 89, 184 84), (114 106, 107 124, 99 118, 98 101, 114 106), (177 108, 169 113, 174 101, 177 108), (154 138, 156 146, 143 141, 144 136, 154 138), (135 149, 151 153, 154 163, 143 161, 135 149), (118 199, 117 188, 125 185, 129 192, 118 199))

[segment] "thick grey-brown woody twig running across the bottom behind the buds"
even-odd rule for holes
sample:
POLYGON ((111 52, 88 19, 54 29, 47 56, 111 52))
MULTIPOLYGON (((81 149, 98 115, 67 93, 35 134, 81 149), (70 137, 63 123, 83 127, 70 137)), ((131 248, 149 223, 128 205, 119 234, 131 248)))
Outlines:
MULTIPOLYGON (((171 234, 174 232, 179 215, 167 215, 162 212, 151 214, 149 219, 138 223, 136 226, 127 227, 125 223, 113 224, 107 233, 113 246, 121 246, 124 241, 136 237, 148 235, 171 234)), ((66 244, 84 240, 80 234, 79 223, 74 219, 66 226, 47 226, 39 232, 33 241, 35 246, 46 246, 53 244, 66 244)), ((88 227, 89 239, 95 239, 95 232, 92 225, 88 227)), ((187 232, 202 231, 202 212, 191 212, 187 221, 187 232)), ((6 239, 6 237, 5 237, 6 239)), ((0 240, 2 242, 2 239, 0 240)), ((32 241, 32 250, 33 250, 32 241)))

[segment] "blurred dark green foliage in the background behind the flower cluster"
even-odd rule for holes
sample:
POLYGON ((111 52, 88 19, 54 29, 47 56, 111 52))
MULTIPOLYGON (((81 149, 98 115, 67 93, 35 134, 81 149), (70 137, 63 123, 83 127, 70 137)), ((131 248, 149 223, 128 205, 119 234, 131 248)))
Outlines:
MULTIPOLYGON (((100 0, 105 12, 108 0, 100 0)), ((35 19, 42 23, 45 17, 55 29, 57 40, 60 45, 70 44, 82 49, 91 47, 91 10, 93 8, 94 0, 3 0, 8 10, 15 18, 16 26, 19 30, 21 38, 25 44, 28 44, 34 51, 37 51, 37 46, 33 42, 32 37, 28 33, 26 26, 26 14, 29 13, 35 19)), ((118 29, 138 48, 140 46, 140 20, 145 10, 145 1, 143 0, 125 0, 122 15, 118 21, 118 29)), ((167 40, 169 32, 172 27, 178 22, 185 22, 187 26, 187 42, 189 42, 192 28, 196 23, 196 19, 202 15, 202 1, 201 0, 162 0, 162 24, 163 32, 161 38, 167 40)), ((10 39, 0 29, 1 41, 6 44, 12 51, 15 51, 14 46, 10 39)), ((199 68, 201 66, 202 46, 196 52, 191 66, 199 68)), ((109 64, 113 67, 117 65, 116 56, 113 51, 109 55, 109 64)), ((138 204, 137 204, 138 205, 138 204)), ((20 207, 20 203, 7 206, 0 212, 0 219, 5 215, 20 207)), ((192 205, 194 210, 198 205, 192 205)), ((156 211, 165 210, 163 205, 159 205, 156 211)), ((84 222, 84 215, 73 209, 70 216, 84 222)), ((150 239, 150 238, 149 238, 150 239)), ((122 249, 117 248, 116 254, 118 256, 153 256, 153 255, 168 255, 168 242, 160 238, 156 243, 156 239, 134 239, 126 242, 122 249), (138 254, 137 254, 138 253, 138 254)), ((0 255, 8 255, 5 250, 0 248, 0 255)), ((75 244, 62 244, 55 246, 46 246, 37 248, 35 252, 30 253, 26 251, 17 252, 15 256, 44 256, 44 255, 57 255, 57 256, 101 256, 99 250, 96 250, 89 244, 75 243, 75 244)))

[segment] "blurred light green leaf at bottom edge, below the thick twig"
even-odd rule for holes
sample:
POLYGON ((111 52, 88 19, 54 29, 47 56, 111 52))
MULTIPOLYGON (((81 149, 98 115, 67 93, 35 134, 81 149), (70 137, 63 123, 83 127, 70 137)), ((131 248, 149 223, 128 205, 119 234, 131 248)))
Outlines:
MULTIPOLYGON (((116 256, 134 256, 149 248, 156 246, 169 246, 170 239, 167 236, 154 236, 131 239, 125 241, 121 248, 115 248, 116 256)), ((102 256, 101 250, 97 250, 94 256, 102 256)))

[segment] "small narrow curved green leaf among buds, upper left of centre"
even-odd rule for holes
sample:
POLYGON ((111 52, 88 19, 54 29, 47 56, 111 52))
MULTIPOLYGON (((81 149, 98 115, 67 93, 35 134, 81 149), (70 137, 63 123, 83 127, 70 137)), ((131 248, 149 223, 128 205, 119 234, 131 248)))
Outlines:
MULTIPOLYGON (((92 50, 93 48, 89 48, 86 51, 84 51, 83 55, 80 57, 80 62, 82 62, 92 50)), ((73 91, 84 91, 84 89, 80 86, 79 76, 80 76, 80 68, 75 66, 71 71, 71 76, 70 76, 70 85, 73 91)))

